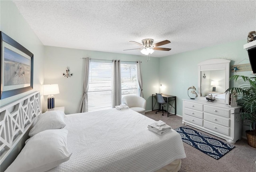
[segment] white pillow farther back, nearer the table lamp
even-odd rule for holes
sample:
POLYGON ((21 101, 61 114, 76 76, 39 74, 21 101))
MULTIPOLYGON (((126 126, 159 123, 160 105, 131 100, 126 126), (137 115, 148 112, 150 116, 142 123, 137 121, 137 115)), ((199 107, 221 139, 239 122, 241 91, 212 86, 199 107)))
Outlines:
POLYGON ((49 111, 39 115, 36 124, 30 130, 28 136, 32 137, 44 130, 64 128, 66 126, 64 122, 65 117, 64 112, 59 110, 49 111))

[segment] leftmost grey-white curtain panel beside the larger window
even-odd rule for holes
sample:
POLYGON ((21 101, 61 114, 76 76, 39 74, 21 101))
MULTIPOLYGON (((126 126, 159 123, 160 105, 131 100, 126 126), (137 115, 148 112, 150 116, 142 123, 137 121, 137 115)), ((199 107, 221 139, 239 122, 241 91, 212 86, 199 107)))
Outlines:
POLYGON ((79 107, 78 112, 88 112, 88 89, 89 89, 89 70, 90 69, 90 58, 85 59, 85 70, 84 70, 84 85, 83 85, 83 98, 79 107))

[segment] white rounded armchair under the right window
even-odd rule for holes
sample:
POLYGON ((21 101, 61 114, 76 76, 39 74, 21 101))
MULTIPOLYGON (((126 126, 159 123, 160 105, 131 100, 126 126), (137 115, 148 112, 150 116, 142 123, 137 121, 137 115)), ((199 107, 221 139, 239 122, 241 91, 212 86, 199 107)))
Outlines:
POLYGON ((146 100, 140 96, 127 95, 122 98, 122 104, 126 104, 130 109, 144 115, 146 111, 146 100))

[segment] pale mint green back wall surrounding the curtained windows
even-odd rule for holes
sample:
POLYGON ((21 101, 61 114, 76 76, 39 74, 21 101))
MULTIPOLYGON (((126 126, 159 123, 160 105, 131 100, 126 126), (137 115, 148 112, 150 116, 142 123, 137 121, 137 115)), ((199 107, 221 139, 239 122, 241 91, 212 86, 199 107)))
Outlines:
MULTIPOLYGON (((143 93, 147 100, 146 110, 151 109, 151 95, 159 91, 159 58, 151 57, 147 62, 146 56, 45 46, 44 84, 59 84, 60 94, 54 95, 56 107, 65 106, 66 114, 78 112, 84 80, 84 60, 82 58, 85 57, 134 62, 140 60, 142 62, 143 93), (70 78, 62 76, 62 73, 66 72, 67 66, 70 68, 70 73, 73 74, 70 78)), ((46 103, 44 110, 46 110, 46 103)))

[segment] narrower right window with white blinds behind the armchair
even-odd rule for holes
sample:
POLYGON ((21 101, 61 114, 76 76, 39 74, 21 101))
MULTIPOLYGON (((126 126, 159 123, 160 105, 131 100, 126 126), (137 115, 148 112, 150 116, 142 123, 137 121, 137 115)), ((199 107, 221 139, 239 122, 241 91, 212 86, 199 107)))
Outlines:
POLYGON ((121 62, 122 98, 126 95, 139 95, 136 62, 121 62))

